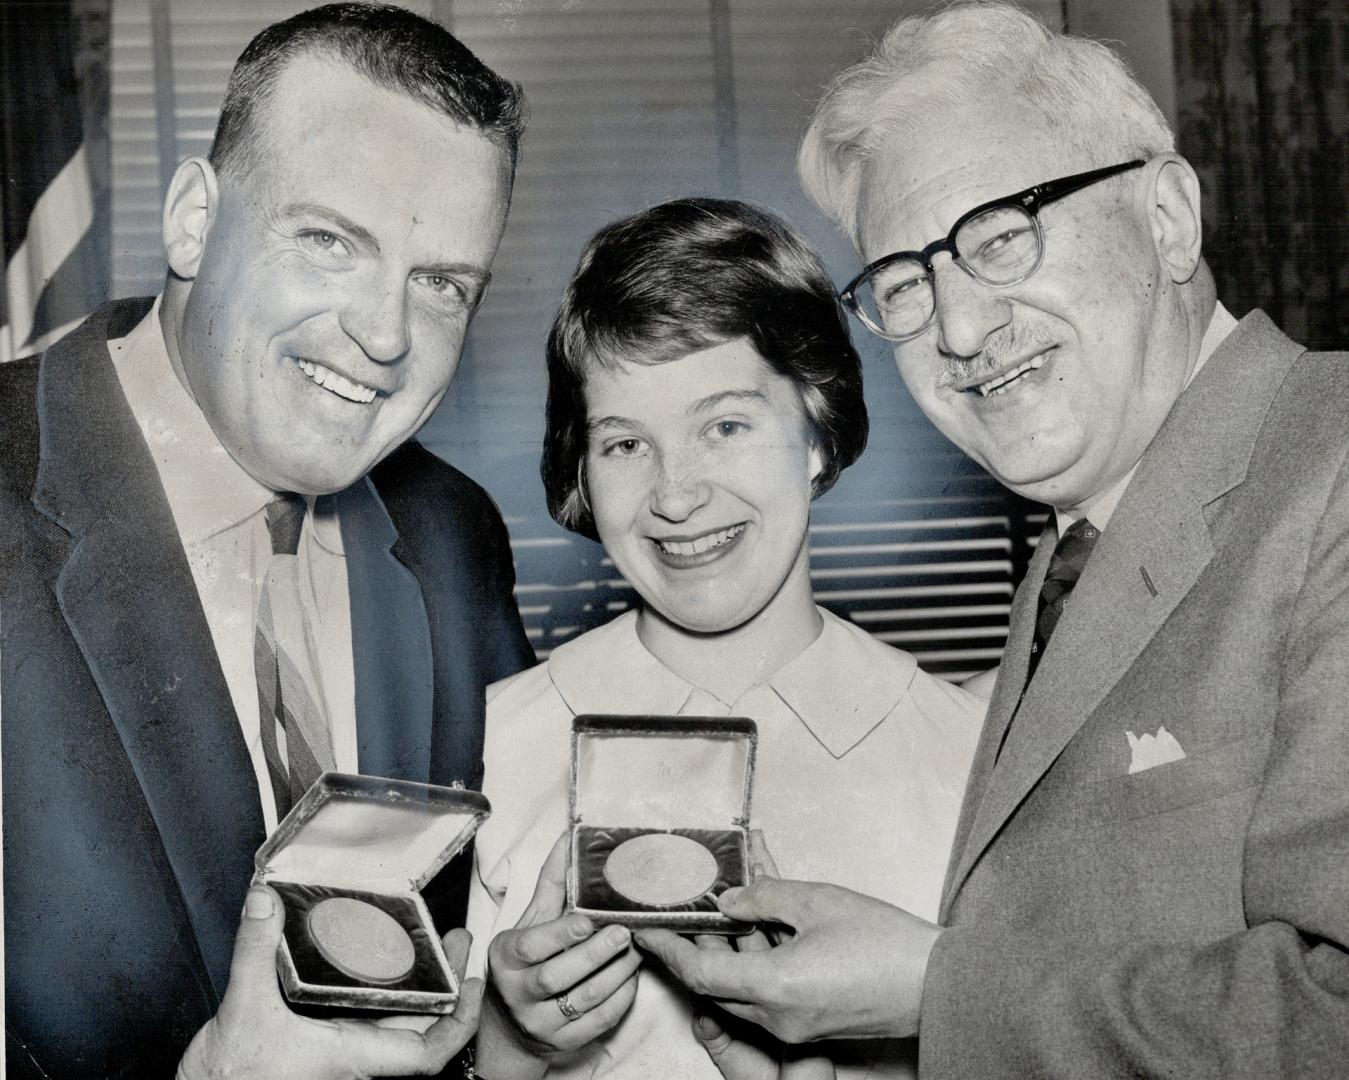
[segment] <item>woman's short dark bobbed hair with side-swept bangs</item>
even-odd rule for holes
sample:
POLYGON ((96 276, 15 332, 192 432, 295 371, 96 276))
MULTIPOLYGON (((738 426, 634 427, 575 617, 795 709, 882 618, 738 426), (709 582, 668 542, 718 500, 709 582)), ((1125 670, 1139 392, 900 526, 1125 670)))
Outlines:
POLYGON ((823 495, 866 446, 867 419, 847 321, 801 236, 745 202, 681 198, 591 237, 548 336, 541 472, 558 524, 598 539, 581 491, 588 367, 660 364, 737 337, 796 384, 823 495))

